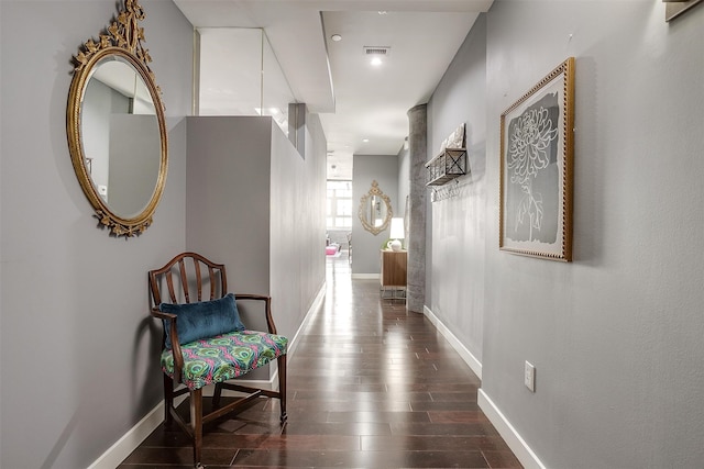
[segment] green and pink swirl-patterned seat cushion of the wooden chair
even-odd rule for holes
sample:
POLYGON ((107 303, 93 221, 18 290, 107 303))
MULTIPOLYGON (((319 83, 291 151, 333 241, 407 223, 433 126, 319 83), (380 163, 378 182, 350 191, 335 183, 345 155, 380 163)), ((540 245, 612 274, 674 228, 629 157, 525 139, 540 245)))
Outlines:
MULTIPOLYGON (((221 334, 212 338, 182 345, 184 369, 182 381, 195 391, 204 386, 222 382, 268 364, 285 355, 288 338, 257 331, 221 334)), ((162 353, 162 370, 174 378, 174 355, 162 353)))

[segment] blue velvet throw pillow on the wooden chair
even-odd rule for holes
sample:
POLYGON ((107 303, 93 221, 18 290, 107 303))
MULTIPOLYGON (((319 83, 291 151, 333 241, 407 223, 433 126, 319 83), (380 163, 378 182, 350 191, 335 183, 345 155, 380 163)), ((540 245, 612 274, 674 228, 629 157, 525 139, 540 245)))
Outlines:
MULTIPOLYGON (((228 293, 219 300, 186 304, 162 303, 158 308, 164 313, 178 316, 176 331, 178 332, 178 343, 182 345, 246 328, 240 320, 238 305, 232 293, 228 293)), ((164 320, 164 328, 166 330, 166 348, 172 348, 169 320, 164 320)))

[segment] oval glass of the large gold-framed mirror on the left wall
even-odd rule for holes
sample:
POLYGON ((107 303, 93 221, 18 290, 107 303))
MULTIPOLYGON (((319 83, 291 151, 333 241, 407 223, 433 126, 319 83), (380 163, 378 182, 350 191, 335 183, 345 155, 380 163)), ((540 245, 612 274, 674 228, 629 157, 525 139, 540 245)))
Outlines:
POLYGON ((133 217, 147 205, 158 179, 161 133, 142 76, 120 56, 98 62, 80 113, 86 171, 109 209, 133 217))

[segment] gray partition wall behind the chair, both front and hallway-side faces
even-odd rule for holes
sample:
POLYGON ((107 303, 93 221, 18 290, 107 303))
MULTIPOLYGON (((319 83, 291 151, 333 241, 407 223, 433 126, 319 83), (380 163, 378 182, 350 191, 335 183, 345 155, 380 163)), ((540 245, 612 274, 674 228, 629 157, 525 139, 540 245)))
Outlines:
POLYGON ((187 248, 226 264, 230 291, 271 295, 290 338, 324 282, 327 144, 318 116, 307 122, 304 159, 271 118, 187 120, 187 248))

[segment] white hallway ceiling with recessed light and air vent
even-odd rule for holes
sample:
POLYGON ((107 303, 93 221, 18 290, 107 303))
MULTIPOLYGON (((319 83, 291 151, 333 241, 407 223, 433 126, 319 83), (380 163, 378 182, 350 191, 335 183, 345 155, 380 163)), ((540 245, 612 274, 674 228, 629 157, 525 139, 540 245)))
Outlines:
POLYGON ((408 110, 428 101, 479 13, 493 2, 174 1, 196 27, 264 29, 295 98, 320 114, 334 179, 352 178, 353 154, 398 153, 408 110), (331 41, 333 34, 342 40, 331 41), (365 46, 391 47, 382 66, 369 64, 365 46))

